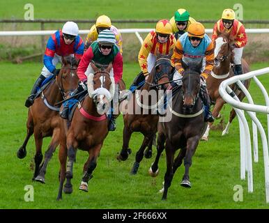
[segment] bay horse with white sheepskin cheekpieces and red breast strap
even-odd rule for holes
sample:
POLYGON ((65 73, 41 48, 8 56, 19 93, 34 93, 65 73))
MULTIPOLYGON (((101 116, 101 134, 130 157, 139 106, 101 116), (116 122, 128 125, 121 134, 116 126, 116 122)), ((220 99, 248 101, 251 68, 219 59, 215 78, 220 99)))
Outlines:
POLYGON ((62 192, 72 193, 71 179, 77 148, 89 153, 86 172, 79 186, 79 190, 88 192, 88 182, 93 176, 97 158, 108 134, 107 111, 115 91, 114 77, 109 77, 112 63, 106 70, 98 69, 93 64, 91 66, 94 73, 88 76, 88 95, 79 102, 68 125, 66 120, 61 121, 59 151, 61 169, 57 200, 62 199, 62 192), (63 186, 65 180, 67 182, 63 186))

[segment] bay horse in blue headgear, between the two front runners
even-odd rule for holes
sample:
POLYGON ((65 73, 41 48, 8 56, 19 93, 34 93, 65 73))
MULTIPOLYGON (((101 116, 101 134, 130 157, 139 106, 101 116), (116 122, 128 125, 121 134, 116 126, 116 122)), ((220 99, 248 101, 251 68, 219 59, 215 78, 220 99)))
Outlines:
MULTIPOLYGON (((128 111, 123 114, 123 146, 121 152, 117 156, 118 160, 127 160, 128 154, 131 149, 129 148, 130 137, 133 132, 141 132, 144 135, 144 140, 136 153, 133 167, 130 171, 131 174, 137 174, 139 163, 143 159, 144 151, 148 146, 148 150, 145 153, 145 157, 151 157, 153 139, 157 132, 157 123, 159 116, 156 112, 157 102, 155 105, 151 105, 153 100, 159 97, 151 96, 149 92, 158 95, 158 90, 165 90, 169 86, 169 80, 171 79, 171 72, 173 70, 171 66, 171 54, 163 55, 157 53, 157 59, 155 66, 148 76, 144 86, 141 87, 141 94, 138 91, 132 93, 128 102, 128 111), (146 102, 148 100, 148 103, 146 102)), ((157 101, 157 100, 156 100, 157 101)))

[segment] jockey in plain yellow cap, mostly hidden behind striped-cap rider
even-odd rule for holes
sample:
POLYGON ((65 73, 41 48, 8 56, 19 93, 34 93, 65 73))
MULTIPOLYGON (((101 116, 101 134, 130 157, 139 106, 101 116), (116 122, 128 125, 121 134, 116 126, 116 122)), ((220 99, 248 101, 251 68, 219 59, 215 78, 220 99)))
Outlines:
POLYGON ((90 32, 86 37, 85 50, 89 48, 93 41, 97 40, 98 34, 104 29, 109 29, 115 34, 116 45, 118 46, 118 49, 120 49, 121 54, 123 54, 123 39, 121 38, 121 33, 112 25, 111 20, 107 17, 107 15, 101 15, 98 17, 95 24, 91 26, 90 32))

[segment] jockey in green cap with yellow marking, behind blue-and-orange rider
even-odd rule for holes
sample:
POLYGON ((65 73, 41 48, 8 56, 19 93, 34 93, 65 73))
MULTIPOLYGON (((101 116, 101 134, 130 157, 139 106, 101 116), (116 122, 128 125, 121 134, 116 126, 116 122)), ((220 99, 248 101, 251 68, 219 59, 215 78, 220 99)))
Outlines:
POLYGON ((176 40, 187 31, 190 24, 196 22, 194 18, 190 17, 190 13, 184 8, 178 8, 175 15, 171 17, 170 21, 174 36, 176 40))

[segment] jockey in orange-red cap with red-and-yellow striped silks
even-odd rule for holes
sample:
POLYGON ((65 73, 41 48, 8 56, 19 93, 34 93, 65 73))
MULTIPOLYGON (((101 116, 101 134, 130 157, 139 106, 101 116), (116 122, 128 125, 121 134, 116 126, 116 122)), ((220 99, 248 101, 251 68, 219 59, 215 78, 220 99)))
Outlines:
POLYGON ((175 45, 176 39, 172 34, 172 26, 170 22, 168 20, 160 20, 157 22, 155 31, 148 33, 143 45, 141 45, 138 54, 138 62, 141 72, 135 77, 130 89, 134 89, 141 82, 148 79, 148 74, 153 69, 156 61, 157 50, 160 54, 168 55, 171 49, 174 51, 175 45))

